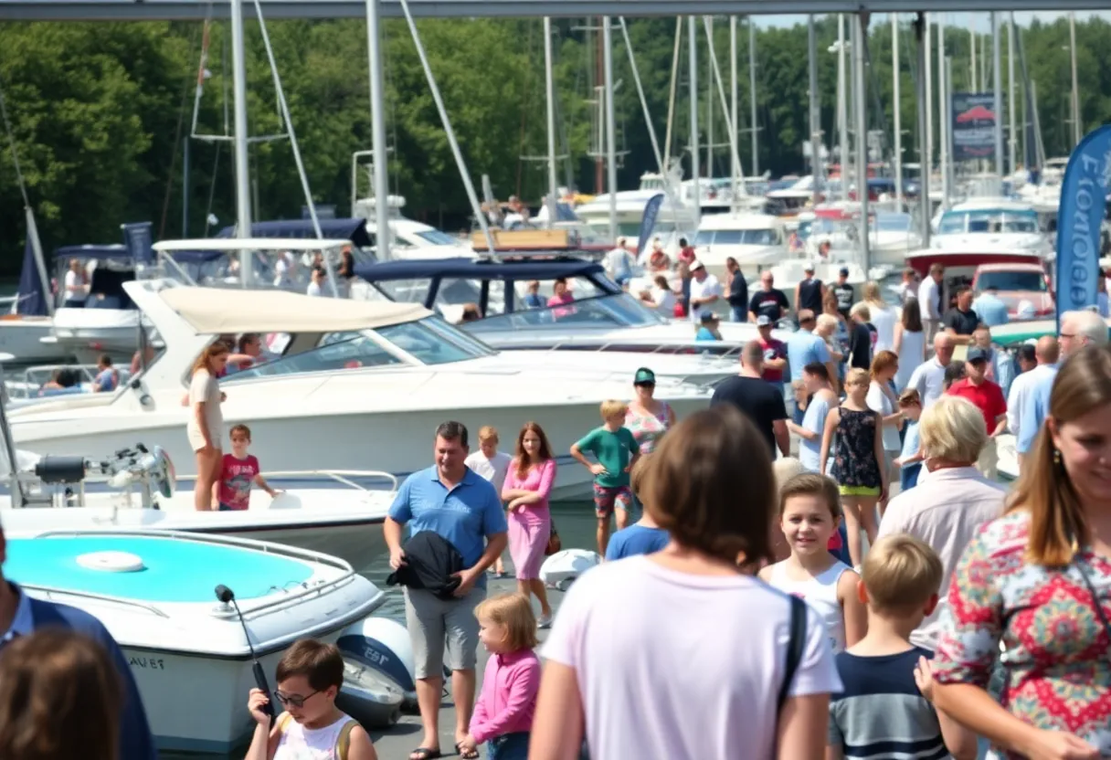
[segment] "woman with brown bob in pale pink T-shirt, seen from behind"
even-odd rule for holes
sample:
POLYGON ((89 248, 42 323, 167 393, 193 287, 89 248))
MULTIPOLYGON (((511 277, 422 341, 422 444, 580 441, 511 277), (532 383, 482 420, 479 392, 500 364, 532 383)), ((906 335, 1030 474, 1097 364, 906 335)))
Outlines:
POLYGON ((810 610, 789 637, 804 606, 738 567, 771 554, 763 436, 724 404, 682 419, 650 457, 644 507, 671 542, 571 587, 544 643, 529 758, 578 757, 584 736, 602 759, 822 757, 841 688, 824 628, 810 610), (681 666, 660 667, 677 653, 681 666))

